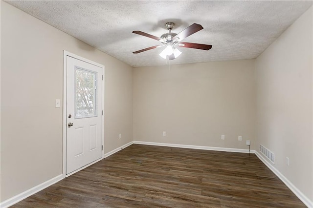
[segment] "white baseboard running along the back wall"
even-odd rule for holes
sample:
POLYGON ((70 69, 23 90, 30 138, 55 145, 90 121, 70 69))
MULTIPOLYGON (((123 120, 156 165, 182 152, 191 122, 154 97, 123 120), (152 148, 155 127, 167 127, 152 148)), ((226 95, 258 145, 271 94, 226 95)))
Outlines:
MULTIPOLYGON (((214 146, 179 145, 179 144, 143 142, 143 141, 134 141, 134 144, 137 144, 137 145, 154 145, 154 146, 170 146, 170 147, 189 148, 189 149, 205 149, 205 150, 224 151, 224 152, 249 153, 248 149, 236 149, 236 148, 225 148, 225 147, 214 147, 214 146)), ((254 150, 250 150, 250 153, 254 153, 254 150)))

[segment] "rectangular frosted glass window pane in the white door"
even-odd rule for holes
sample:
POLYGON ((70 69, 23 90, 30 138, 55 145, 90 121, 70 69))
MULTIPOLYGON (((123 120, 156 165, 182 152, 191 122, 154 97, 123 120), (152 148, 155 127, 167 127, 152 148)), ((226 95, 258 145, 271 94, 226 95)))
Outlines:
POLYGON ((75 66, 75 118, 96 115, 95 72, 75 66))

